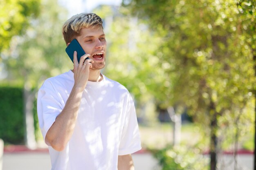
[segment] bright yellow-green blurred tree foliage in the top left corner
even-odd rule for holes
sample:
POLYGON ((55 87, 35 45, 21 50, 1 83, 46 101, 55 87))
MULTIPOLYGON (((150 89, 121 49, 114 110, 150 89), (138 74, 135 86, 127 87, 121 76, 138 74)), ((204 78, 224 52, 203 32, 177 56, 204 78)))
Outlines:
POLYGON ((1 0, 0 52, 9 47, 13 36, 25 32, 31 18, 39 15, 39 4, 40 0, 1 0))

